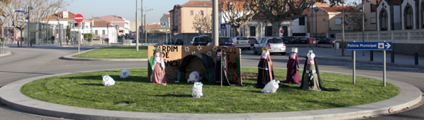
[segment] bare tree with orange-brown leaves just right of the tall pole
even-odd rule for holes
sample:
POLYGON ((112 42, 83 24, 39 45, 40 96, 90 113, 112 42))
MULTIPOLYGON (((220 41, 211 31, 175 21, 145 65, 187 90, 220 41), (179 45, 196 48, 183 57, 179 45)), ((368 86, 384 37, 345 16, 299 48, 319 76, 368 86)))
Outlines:
POLYGON ((236 29, 236 36, 240 36, 240 27, 247 24, 256 15, 256 9, 250 9, 246 0, 220 0, 219 9, 226 24, 236 29))

